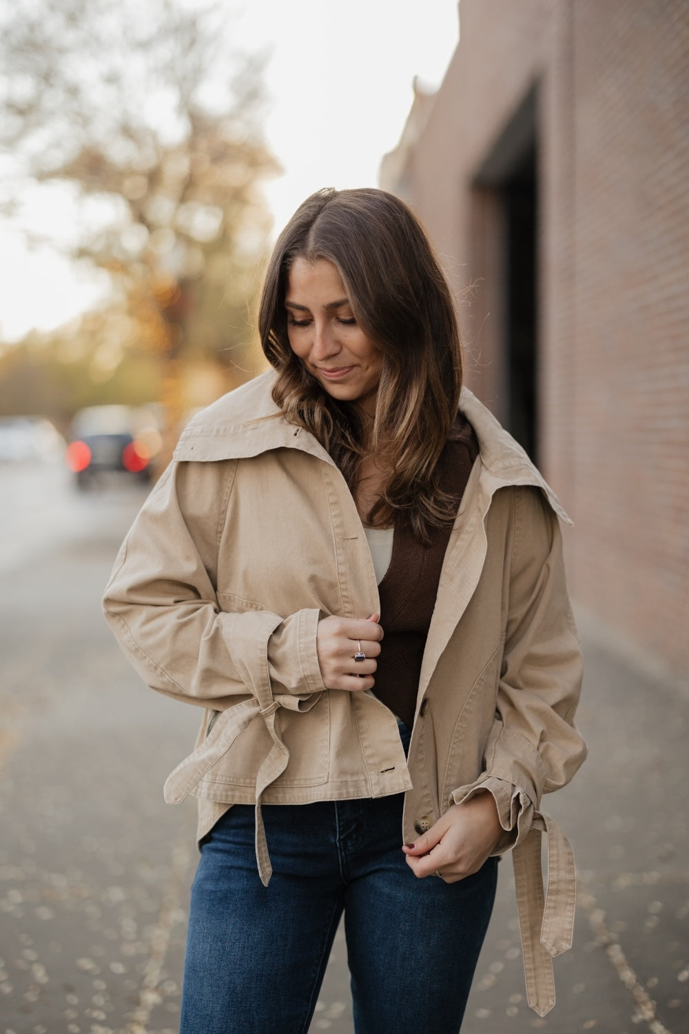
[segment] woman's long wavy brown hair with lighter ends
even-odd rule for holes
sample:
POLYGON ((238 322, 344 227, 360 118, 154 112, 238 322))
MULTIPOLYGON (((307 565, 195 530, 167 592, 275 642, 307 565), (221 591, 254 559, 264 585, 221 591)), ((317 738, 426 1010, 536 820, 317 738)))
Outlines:
POLYGON ((420 541, 453 519, 438 459, 457 413, 462 348, 452 299, 429 239, 411 210, 384 190, 319 190, 300 206, 271 257, 258 326, 278 373, 273 398, 287 420, 330 452, 353 491, 364 456, 388 472, 367 522, 409 521, 420 541), (352 312, 383 361, 373 428, 355 404, 321 388, 289 346, 285 293, 295 258, 338 270, 352 312))

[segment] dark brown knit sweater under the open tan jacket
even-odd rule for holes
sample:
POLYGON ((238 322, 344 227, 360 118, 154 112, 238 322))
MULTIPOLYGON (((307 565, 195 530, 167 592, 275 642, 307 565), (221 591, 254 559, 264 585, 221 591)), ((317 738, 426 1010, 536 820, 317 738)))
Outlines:
MULTIPOLYGON (((459 509, 478 443, 471 424, 458 415, 440 455, 441 485, 459 509)), ((430 529, 431 542, 416 542, 408 525, 395 528, 393 555, 380 582, 380 624, 385 632, 373 692, 411 728, 421 660, 435 607, 440 570, 451 525, 430 529)))

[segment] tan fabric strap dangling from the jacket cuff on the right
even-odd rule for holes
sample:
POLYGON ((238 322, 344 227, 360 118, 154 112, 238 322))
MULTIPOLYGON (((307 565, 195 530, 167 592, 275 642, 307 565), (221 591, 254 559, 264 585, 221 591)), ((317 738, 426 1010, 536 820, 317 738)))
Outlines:
POLYGON ((535 812, 512 850, 527 1000, 540 1016, 555 1005, 553 956, 571 947, 576 902, 574 852, 560 826, 535 812), (547 837, 547 890, 543 895, 541 833, 547 837))

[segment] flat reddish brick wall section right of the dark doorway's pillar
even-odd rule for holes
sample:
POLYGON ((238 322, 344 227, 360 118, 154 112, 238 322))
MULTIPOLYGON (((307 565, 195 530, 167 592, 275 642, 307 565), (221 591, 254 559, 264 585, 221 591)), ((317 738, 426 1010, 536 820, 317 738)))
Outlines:
POLYGON ((574 586, 686 671, 689 6, 577 0, 572 34, 574 586))

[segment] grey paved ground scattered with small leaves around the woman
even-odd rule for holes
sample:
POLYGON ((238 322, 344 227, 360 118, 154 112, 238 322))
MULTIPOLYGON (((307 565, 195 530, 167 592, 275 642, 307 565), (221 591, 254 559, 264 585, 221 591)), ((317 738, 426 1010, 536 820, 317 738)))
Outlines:
MULTIPOLYGON (((161 786, 197 713, 137 683, 99 612, 140 500, 0 470, 0 1034, 177 1031, 194 815, 161 786)), ((575 946, 540 1020, 503 861, 463 1034, 689 1031, 689 692, 583 631, 591 758, 547 801, 577 855, 575 946)), ((352 1030, 340 935, 312 1024, 325 1030, 352 1030)))

